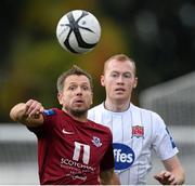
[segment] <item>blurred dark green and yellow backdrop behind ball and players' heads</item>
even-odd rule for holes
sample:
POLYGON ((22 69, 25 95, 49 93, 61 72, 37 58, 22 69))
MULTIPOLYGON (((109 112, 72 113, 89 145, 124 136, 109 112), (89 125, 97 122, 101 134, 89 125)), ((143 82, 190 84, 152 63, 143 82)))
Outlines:
POLYGON ((92 75, 94 105, 101 103, 103 63, 117 53, 136 63, 135 104, 142 90, 194 71, 195 1, 1 0, 0 122, 28 98, 58 107, 56 79, 73 64, 92 75), (102 27, 100 43, 83 55, 64 51, 55 36, 58 19, 75 9, 94 14, 102 27))

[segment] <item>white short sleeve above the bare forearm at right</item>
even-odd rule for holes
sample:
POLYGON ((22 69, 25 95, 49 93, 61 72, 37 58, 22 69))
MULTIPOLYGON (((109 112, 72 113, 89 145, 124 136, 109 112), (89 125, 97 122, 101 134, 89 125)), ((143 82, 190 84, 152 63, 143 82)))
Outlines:
POLYGON ((174 140, 170 135, 164 120, 157 115, 153 115, 154 138, 153 148, 161 160, 167 160, 178 154, 174 140))

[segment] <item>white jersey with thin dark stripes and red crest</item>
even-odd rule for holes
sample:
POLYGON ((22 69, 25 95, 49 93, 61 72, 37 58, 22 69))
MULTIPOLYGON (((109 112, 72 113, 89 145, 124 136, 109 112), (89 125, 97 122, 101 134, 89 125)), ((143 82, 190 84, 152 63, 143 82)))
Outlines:
POLYGON ((154 111, 130 104, 126 111, 114 112, 102 103, 89 110, 88 118, 112 130, 115 172, 122 185, 146 184, 153 149, 160 160, 178 154, 164 120, 154 111))

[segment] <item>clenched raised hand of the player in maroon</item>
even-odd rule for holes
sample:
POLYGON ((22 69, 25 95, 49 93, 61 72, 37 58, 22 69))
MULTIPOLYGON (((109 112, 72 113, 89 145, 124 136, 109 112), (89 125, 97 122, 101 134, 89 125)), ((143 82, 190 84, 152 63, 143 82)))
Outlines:
POLYGON ((41 112, 44 110, 43 106, 41 103, 35 99, 29 99, 26 102, 26 116, 31 117, 31 118, 39 118, 41 112))

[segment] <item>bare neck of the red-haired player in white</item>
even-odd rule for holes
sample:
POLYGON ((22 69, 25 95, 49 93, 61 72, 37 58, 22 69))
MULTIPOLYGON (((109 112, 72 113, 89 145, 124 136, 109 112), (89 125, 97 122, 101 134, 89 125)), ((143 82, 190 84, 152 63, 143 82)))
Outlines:
POLYGON ((126 111, 130 106, 130 101, 110 101, 104 102, 104 107, 110 111, 126 111))

